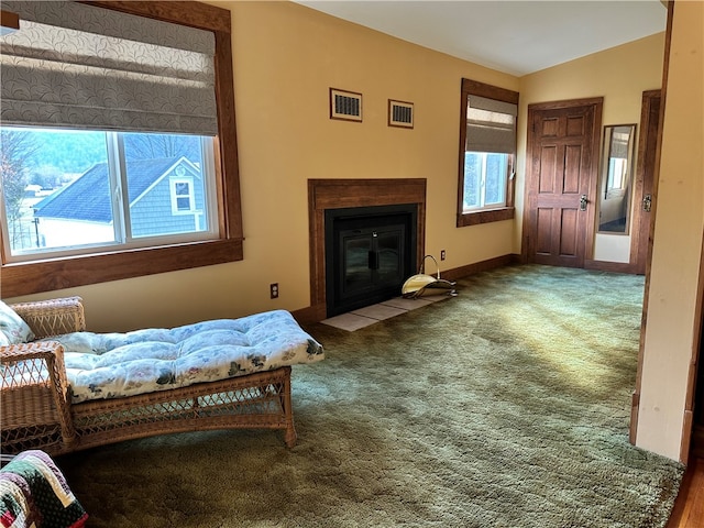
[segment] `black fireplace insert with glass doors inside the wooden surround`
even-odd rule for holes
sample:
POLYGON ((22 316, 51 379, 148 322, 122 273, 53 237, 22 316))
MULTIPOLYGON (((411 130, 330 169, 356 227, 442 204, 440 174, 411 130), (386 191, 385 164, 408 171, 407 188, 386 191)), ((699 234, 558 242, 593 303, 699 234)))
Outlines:
POLYGON ((328 317, 397 297, 416 268, 415 204, 327 209, 328 317))

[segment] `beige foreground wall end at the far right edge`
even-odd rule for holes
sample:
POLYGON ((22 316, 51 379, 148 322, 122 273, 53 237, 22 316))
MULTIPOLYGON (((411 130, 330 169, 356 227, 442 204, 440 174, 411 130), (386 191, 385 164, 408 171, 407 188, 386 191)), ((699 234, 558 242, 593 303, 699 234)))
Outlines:
MULTIPOLYGON (((704 227, 704 3, 676 1, 637 444, 680 458, 704 227)), ((701 299, 700 299, 701 301, 701 299)), ((701 380, 698 383, 704 383, 701 380)))

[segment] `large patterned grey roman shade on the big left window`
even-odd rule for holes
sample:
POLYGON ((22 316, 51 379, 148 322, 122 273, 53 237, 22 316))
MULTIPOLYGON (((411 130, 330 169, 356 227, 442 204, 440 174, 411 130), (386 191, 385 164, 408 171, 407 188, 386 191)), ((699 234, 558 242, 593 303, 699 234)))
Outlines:
POLYGON ((3 1, 2 125, 218 133, 215 35, 72 1, 3 1))

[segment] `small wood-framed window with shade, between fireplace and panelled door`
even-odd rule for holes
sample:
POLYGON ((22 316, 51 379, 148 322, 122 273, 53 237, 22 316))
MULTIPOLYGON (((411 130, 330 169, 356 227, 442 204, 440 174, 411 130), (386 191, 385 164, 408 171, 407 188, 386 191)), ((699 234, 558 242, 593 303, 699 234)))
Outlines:
POLYGON ((458 227, 514 218, 518 94, 462 80, 458 227))

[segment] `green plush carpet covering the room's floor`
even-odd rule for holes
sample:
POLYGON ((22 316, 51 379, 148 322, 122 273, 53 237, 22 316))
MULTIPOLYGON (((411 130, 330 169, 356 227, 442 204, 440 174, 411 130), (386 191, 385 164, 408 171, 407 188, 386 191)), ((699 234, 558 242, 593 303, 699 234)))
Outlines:
POLYGON ((510 266, 294 367, 298 444, 170 435, 57 459, 91 527, 662 527, 683 468, 628 443, 644 279, 510 266))

